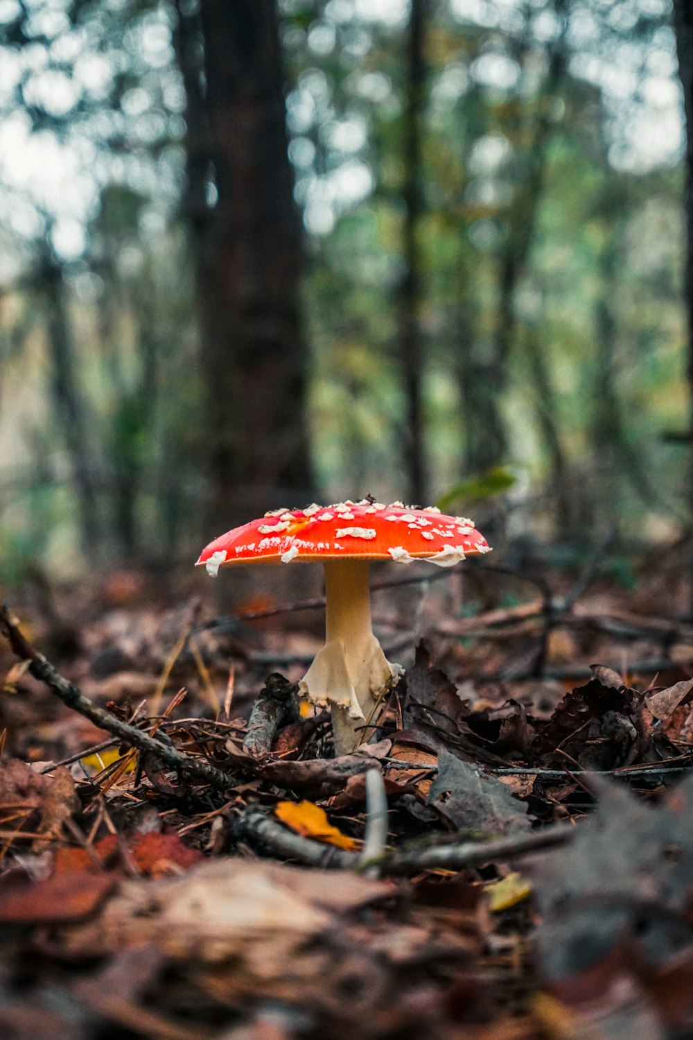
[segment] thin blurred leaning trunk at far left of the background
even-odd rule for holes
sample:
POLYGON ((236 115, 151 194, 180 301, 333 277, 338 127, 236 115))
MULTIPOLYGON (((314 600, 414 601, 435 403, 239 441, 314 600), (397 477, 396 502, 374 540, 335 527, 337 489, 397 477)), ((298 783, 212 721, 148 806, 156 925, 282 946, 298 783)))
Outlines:
POLYGON ((48 350, 51 363, 50 391, 54 421, 64 440, 70 459, 77 490, 78 516, 84 550, 91 562, 96 562, 102 554, 103 546, 92 457, 89 449, 92 437, 76 374, 78 362, 75 357, 62 270, 48 250, 42 257, 39 282, 46 300, 48 350))

